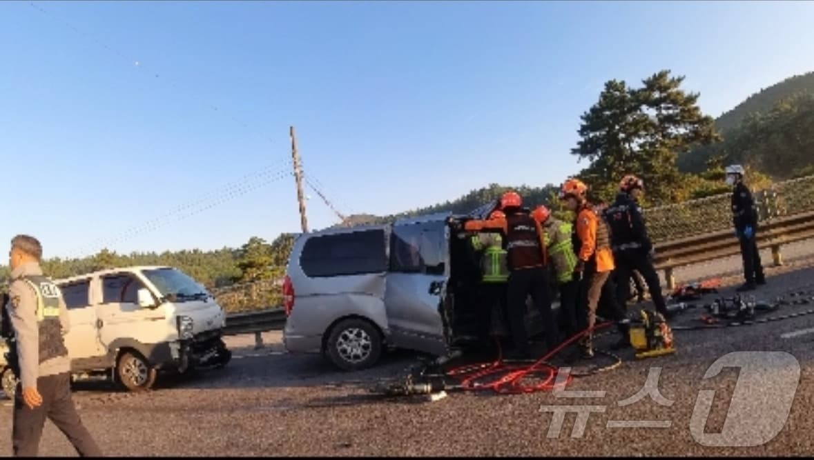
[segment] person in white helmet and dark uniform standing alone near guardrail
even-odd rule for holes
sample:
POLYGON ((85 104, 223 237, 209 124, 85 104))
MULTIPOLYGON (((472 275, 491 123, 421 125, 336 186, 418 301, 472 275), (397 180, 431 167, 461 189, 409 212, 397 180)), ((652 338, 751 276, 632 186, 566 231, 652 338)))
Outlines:
POLYGON ((746 283, 737 289, 741 293, 754 290, 755 284, 766 284, 755 237, 758 231, 758 213, 755 210, 752 193, 743 183, 744 172, 741 165, 726 167, 726 183, 733 186, 732 221, 735 226, 735 236, 741 242, 743 278, 746 280, 746 283))

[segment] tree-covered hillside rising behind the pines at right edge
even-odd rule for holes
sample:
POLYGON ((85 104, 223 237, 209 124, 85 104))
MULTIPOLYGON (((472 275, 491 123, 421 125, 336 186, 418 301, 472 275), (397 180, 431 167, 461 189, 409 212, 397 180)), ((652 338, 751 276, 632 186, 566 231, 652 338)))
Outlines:
POLYGON ((774 179, 814 167, 814 72, 793 76, 752 94, 716 119, 723 141, 681 154, 681 171, 699 173, 710 163, 744 163, 774 179))

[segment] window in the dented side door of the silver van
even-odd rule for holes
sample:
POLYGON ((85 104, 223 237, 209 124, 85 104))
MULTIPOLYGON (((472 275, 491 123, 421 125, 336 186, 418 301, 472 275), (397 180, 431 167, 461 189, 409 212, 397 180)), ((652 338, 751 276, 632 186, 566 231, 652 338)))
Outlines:
POLYGON ((393 227, 390 270, 444 275, 444 224, 414 223, 393 227))

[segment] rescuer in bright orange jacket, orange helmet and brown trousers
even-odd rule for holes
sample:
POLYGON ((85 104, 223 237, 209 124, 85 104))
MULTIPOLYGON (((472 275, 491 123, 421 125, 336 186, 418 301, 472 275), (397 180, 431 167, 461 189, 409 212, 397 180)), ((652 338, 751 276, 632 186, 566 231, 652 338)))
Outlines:
MULTIPOLYGON (((612 319, 621 322, 625 319, 625 314, 619 302, 615 302, 614 284, 607 283, 610 272, 614 270, 608 229, 604 219, 597 215, 596 210, 586 199, 587 192, 588 186, 581 180, 569 179, 562 184, 560 199, 576 214, 571 240, 577 257, 574 273, 580 284, 577 297, 578 310, 580 315, 587 319, 586 328, 593 328, 600 297, 606 298, 606 302, 610 303, 612 319)), ((628 324, 617 323, 617 327, 622 334, 617 346, 628 345, 628 324)), ((581 345, 584 358, 593 358, 593 332, 585 336, 581 345)))

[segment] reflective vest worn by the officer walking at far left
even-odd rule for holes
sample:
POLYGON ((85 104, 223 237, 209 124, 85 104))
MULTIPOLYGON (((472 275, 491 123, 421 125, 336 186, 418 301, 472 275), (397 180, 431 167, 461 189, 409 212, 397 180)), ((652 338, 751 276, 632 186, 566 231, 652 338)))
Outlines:
POLYGON ((37 297, 37 326, 39 328, 40 362, 68 356, 59 320, 59 288, 46 276, 23 276, 37 297))

